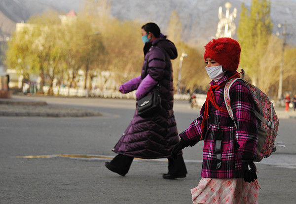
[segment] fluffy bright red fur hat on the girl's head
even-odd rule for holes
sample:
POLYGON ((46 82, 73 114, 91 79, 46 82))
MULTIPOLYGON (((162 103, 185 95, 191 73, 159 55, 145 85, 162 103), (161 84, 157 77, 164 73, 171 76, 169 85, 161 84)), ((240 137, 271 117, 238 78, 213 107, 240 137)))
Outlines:
POLYGON ((236 40, 229 37, 213 39, 205 48, 205 60, 209 57, 217 61, 226 70, 236 71, 241 52, 239 43, 236 40))

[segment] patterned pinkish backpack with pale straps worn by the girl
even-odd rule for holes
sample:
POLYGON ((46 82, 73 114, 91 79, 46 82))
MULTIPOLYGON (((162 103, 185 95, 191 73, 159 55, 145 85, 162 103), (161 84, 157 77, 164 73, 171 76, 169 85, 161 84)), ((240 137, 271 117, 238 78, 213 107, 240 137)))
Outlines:
MULTIPOLYGON (((232 78, 226 82, 224 88, 224 101, 227 111, 233 120, 233 112, 230 106, 229 89, 236 80, 243 80, 245 71, 242 69, 242 78, 232 78)), ((263 158, 269 157, 272 152, 276 151, 275 138, 278 132, 279 119, 267 95, 258 87, 243 80, 249 88, 254 99, 254 112, 257 118, 257 138, 258 145, 256 148, 257 157, 254 162, 260 162, 263 158)), ((236 124, 234 123, 235 127, 236 124)), ((284 145, 279 145, 284 146, 284 145)))

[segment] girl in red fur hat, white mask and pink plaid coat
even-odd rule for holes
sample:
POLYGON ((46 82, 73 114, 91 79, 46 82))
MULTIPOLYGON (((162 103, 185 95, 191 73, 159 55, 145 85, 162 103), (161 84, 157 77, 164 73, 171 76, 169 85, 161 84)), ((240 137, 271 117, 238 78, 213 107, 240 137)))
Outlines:
POLYGON ((225 83, 239 77, 241 48, 231 38, 218 38, 206 46, 206 71, 212 79, 200 117, 180 134, 172 157, 204 140, 201 177, 191 189, 193 204, 257 204, 256 158, 258 143, 253 97, 242 80, 229 89, 234 121, 223 97, 225 83), (236 124, 236 125, 235 125, 236 124))

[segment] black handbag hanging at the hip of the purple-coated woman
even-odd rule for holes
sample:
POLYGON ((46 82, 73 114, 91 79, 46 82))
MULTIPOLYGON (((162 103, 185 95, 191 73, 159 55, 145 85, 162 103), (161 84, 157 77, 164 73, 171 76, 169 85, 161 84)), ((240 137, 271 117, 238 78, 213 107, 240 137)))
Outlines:
POLYGON ((138 101, 138 115, 142 118, 150 117, 161 109, 161 97, 159 95, 159 85, 154 92, 138 101))

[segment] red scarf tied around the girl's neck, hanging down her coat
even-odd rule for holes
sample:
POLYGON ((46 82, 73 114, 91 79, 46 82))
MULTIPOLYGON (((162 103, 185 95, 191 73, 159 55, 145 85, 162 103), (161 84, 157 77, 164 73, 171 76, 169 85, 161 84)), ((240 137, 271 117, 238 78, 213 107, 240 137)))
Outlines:
MULTIPOLYGON (((229 77, 229 79, 239 78, 239 77, 240 77, 239 73, 236 72, 231 77, 229 77)), ((218 109, 220 111, 223 111, 223 112, 227 112, 226 109, 224 109, 222 107, 219 107, 219 105, 216 102, 215 94, 214 94, 214 91, 213 91, 213 90, 217 91, 218 89, 224 87, 225 84, 227 83, 227 81, 224 81, 223 83, 221 83, 219 85, 218 84, 215 84, 215 85, 211 84, 211 86, 210 86, 210 88, 209 88, 209 90, 207 92, 207 99, 206 99, 206 102, 205 102, 205 112, 204 112, 204 117, 203 117, 202 123, 201 123, 201 131, 203 131, 203 128, 204 128, 204 121, 207 120, 207 118, 208 118, 209 109, 210 109, 210 102, 215 106, 216 109, 218 109)), ((200 140, 201 140, 201 138, 202 138, 202 136, 200 137, 200 140)))

